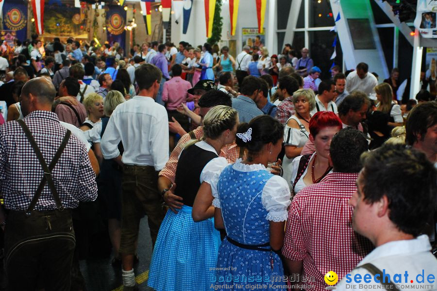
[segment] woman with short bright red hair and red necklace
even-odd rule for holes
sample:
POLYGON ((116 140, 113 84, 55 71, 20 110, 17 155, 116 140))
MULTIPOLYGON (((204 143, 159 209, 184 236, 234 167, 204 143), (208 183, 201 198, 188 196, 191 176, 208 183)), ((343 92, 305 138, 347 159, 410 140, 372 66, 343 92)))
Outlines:
POLYGON ((310 140, 314 142, 316 151, 296 157, 291 163, 291 190, 297 194, 304 187, 319 183, 332 167, 329 165, 329 146, 333 136, 342 129, 338 116, 330 111, 320 111, 309 123, 310 140))

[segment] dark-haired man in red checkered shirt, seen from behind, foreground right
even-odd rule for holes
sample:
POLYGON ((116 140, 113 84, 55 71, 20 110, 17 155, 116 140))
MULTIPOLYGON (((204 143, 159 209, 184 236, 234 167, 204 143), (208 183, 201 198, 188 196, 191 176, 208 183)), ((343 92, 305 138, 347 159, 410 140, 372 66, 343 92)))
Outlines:
POLYGON ((353 231, 348 204, 356 191, 360 155, 367 150, 362 132, 340 130, 330 146, 333 173, 296 194, 288 210, 282 253, 290 274, 300 274, 301 279, 304 275, 311 290, 328 286, 324 276, 329 271, 340 280, 372 249, 367 239, 353 231))

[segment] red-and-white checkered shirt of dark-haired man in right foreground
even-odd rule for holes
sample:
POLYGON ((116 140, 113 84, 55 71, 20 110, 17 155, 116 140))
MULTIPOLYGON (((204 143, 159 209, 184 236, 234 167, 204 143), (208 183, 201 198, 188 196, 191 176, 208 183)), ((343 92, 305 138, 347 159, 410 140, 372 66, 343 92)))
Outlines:
POLYGON ((357 177, 358 173, 328 174, 296 194, 288 210, 282 253, 287 259, 303 260, 303 273, 311 278, 306 284, 315 290, 328 286, 324 275, 329 271, 336 272, 340 281, 373 248, 351 226, 348 201, 356 191, 357 177))

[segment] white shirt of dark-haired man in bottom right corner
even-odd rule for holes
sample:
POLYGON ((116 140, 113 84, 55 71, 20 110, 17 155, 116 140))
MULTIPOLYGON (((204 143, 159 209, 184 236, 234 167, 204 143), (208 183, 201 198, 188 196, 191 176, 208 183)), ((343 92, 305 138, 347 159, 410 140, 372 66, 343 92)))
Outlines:
MULTIPOLYGON (((395 284, 399 290, 436 290, 437 259, 430 250, 431 245, 426 235, 421 235, 413 240, 387 242, 370 252, 358 263, 358 266, 366 263, 373 264, 385 274, 390 275, 390 282, 395 284), (408 274, 407 279, 405 278, 405 272, 408 274), (401 275, 395 276, 396 274, 401 275), (428 275, 430 274, 434 276, 434 278, 432 278, 433 276, 430 278, 433 283, 428 282, 428 275), (418 275, 420 275, 419 278, 417 278, 418 275), (399 282, 399 279, 401 279, 401 282, 399 282), (423 280, 423 283, 418 282, 418 280, 423 280)), ((343 277, 336 285, 336 290, 384 290, 380 288, 380 285, 380 283, 374 281, 374 276, 366 269, 358 268, 353 269, 343 277), (361 275, 360 283, 356 283, 354 280, 354 276, 357 274, 361 275), (363 280, 365 275, 370 278, 370 283, 363 280)))

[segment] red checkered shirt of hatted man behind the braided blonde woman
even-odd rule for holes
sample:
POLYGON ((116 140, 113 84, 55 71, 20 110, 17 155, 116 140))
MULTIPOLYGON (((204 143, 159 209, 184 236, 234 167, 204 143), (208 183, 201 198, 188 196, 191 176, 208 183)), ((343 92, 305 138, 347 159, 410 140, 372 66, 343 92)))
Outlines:
MULTIPOLYGON (((197 129, 193 130, 196 139, 200 139, 203 136, 203 128, 200 126, 197 129)), ((170 154, 168 162, 166 166, 159 172, 159 176, 164 176, 170 179, 172 183, 174 183, 174 179, 176 177, 176 167, 178 165, 179 155, 182 152, 185 144, 191 140, 191 137, 188 133, 184 134, 179 140, 176 147, 170 154)), ((219 157, 226 158, 229 163, 235 163, 235 161, 239 157, 240 148, 234 143, 232 145, 224 146, 220 150, 219 157), (225 151, 227 149, 227 151, 225 151)))

